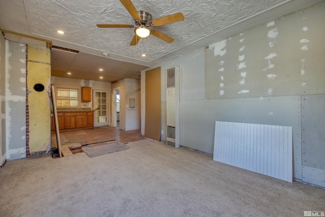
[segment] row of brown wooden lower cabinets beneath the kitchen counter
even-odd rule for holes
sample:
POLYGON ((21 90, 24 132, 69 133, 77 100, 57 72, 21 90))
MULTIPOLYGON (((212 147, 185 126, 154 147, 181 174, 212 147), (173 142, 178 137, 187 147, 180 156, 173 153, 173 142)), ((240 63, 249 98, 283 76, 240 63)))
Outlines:
MULTIPOLYGON (((58 112, 59 130, 93 127, 93 112, 58 112)), ((51 130, 55 131, 54 116, 51 116, 51 130)))

